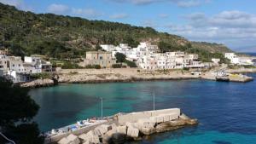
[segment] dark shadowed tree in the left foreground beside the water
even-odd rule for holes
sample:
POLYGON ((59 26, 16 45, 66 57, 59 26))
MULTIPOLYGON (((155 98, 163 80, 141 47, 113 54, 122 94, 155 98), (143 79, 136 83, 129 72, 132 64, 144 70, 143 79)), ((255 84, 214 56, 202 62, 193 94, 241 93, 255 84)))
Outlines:
MULTIPOLYGON (((32 122, 39 106, 21 88, 5 78, 0 78, 0 127, 3 134, 19 144, 43 144, 38 125, 32 122)), ((2 143, 0 141, 0 143, 2 143)))

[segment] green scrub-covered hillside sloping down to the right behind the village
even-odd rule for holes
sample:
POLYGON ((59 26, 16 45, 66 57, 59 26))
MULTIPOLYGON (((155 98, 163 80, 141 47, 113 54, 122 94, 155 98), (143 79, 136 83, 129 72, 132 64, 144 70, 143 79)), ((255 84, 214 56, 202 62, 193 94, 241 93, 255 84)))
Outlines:
POLYGON ((141 41, 160 45, 162 51, 184 50, 208 52, 229 51, 215 43, 190 43, 187 39, 150 27, 131 26, 103 20, 55 14, 33 14, 0 3, 0 46, 14 55, 48 55, 76 58, 98 44, 129 43, 135 47, 141 41), (163 47, 164 46, 164 47, 163 47), (213 49, 213 50, 212 50, 213 49))

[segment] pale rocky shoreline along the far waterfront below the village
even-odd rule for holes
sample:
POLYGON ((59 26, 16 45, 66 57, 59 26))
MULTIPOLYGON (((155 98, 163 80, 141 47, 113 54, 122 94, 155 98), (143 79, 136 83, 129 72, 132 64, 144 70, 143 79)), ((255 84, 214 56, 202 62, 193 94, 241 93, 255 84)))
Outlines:
MULTIPOLYGON (((232 73, 256 73, 256 69, 228 70, 232 73)), ((147 81, 172 81, 172 80, 214 80, 216 78, 210 72, 202 75, 191 75, 189 72, 148 72, 137 68, 123 69, 66 69, 56 72, 58 75, 57 84, 105 84, 105 83, 132 83, 147 81)), ((246 83, 253 78, 230 78, 230 82, 246 83)), ((52 79, 36 79, 34 81, 20 84, 27 88, 42 88, 57 85, 52 79)))

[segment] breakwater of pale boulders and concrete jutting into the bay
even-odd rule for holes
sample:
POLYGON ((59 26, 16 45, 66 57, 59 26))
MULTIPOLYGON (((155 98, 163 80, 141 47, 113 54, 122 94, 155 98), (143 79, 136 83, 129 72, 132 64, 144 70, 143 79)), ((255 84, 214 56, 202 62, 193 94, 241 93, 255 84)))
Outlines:
MULTIPOLYGON (((185 116, 179 108, 147 112, 118 113, 87 130, 74 130, 63 135, 47 137, 46 143, 89 144, 114 143, 142 140, 144 136, 186 125, 197 124, 196 119, 185 116)), ((83 128, 82 128, 83 129, 83 128)))

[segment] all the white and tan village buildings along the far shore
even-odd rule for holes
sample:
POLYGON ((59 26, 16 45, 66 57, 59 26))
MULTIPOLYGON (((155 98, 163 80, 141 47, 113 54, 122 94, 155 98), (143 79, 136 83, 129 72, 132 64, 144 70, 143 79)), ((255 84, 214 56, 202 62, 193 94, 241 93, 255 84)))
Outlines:
MULTIPOLYGON (((200 72, 212 66, 220 66, 221 60, 212 58, 212 62, 202 62, 199 55, 187 54, 183 51, 160 53, 157 45, 148 42, 139 43, 137 48, 131 48, 127 43, 118 46, 102 44, 102 49, 87 51, 82 61, 78 64, 84 68, 123 68, 132 67, 118 60, 117 55, 125 55, 125 60, 134 63, 135 66, 148 71, 168 69, 194 69, 200 72)), ((226 53, 226 59, 230 65, 253 66, 253 58, 249 56, 239 57, 235 53, 226 53)), ((32 74, 53 72, 55 67, 44 60, 42 55, 13 56, 8 49, 0 50, 0 76, 9 78, 14 83, 24 83, 31 80, 32 74)))

